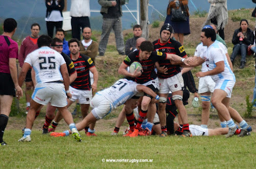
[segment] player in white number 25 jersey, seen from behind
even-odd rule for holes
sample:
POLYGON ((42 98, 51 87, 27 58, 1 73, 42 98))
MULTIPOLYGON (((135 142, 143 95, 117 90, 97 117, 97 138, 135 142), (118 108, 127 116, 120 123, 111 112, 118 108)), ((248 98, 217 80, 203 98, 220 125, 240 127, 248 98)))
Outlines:
POLYGON ((72 95, 69 92, 70 80, 66 62, 58 52, 50 49, 51 41, 52 39, 46 35, 38 38, 39 49, 27 56, 19 74, 18 84, 22 86, 26 74, 32 66, 36 74, 36 86, 27 115, 26 129, 23 137, 18 141, 31 141, 30 134, 35 120, 35 112, 41 105, 47 105, 49 102, 64 117, 74 138, 81 141, 73 117, 67 109, 67 96, 71 98, 72 95))

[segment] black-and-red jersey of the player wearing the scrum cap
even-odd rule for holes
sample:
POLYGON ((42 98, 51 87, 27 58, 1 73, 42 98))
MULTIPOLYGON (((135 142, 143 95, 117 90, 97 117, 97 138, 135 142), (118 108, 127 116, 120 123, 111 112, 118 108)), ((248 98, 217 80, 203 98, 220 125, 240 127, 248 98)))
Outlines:
MULTIPOLYGON (((187 56, 184 47, 180 42, 169 39, 167 43, 160 43, 160 39, 153 42, 155 51, 159 51, 166 54, 176 54, 182 58, 187 56)), ((159 62, 160 67, 165 66, 168 68, 167 74, 158 73, 157 76, 161 79, 166 79, 180 73, 180 65, 173 65, 169 60, 163 60, 159 62)))

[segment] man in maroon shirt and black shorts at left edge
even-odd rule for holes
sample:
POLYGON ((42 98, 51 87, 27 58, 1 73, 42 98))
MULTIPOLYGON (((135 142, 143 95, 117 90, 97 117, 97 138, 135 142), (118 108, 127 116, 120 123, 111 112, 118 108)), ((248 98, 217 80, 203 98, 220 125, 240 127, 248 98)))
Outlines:
POLYGON ((16 95, 17 98, 23 96, 17 78, 18 44, 11 39, 16 28, 16 20, 8 18, 4 21, 4 33, 0 36, 0 147, 7 145, 3 137, 11 112, 13 96, 16 95))

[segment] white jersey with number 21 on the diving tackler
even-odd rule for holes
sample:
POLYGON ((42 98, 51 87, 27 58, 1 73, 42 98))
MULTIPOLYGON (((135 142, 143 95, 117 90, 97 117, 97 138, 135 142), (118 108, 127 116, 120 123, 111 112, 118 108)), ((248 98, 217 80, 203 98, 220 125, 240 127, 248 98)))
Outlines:
POLYGON ((138 93, 137 85, 138 83, 134 81, 120 79, 113 86, 99 91, 98 94, 105 96, 116 108, 138 93))

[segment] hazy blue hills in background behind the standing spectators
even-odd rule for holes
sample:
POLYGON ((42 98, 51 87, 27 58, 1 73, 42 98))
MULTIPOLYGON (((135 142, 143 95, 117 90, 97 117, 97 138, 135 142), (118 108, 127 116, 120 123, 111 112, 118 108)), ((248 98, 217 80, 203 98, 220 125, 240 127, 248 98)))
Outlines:
MULTIPOLYGON (((127 7, 130 10, 135 10, 136 7, 136 0, 130 0, 127 7)), ((70 9, 71 1, 68 0, 68 10, 70 9)), ((166 7, 168 4, 168 0, 161 0, 161 3, 157 0, 151 0, 150 6, 148 9, 148 16, 150 22, 154 20, 161 20, 164 19, 156 10, 158 10, 164 17, 166 15, 166 7), (154 10, 154 9, 156 10, 154 10)), ((199 11, 207 11, 209 10, 209 3, 204 0, 193 0, 189 1, 189 10, 190 13, 195 12, 196 10, 199 11)), ((240 0, 232 0, 228 1, 228 10, 232 9, 239 9, 239 8, 254 8, 255 4, 251 1, 240 1, 240 0)), ((100 5, 98 1, 90 1, 90 8, 91 10, 100 10, 100 5)), ((125 6, 123 6, 123 10, 127 10, 125 6)), ((0 6, 0 21, 3 22, 5 18, 13 17, 18 21, 18 29, 15 34, 15 37, 18 39, 22 39, 23 37, 30 34, 30 26, 34 22, 38 22, 41 26, 41 34, 46 34, 46 6, 45 1, 42 0, 12 0, 12 1, 5 1, 2 2, 0 6)), ((134 15, 136 15, 134 13, 134 15)), ((102 28, 102 16, 99 12, 91 12, 91 27, 93 30, 101 30, 102 28)), ((123 29, 130 29, 131 25, 136 23, 136 20, 130 13, 123 13, 122 17, 122 25, 123 29)))

